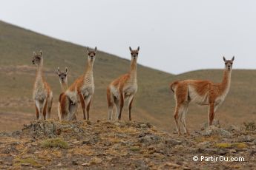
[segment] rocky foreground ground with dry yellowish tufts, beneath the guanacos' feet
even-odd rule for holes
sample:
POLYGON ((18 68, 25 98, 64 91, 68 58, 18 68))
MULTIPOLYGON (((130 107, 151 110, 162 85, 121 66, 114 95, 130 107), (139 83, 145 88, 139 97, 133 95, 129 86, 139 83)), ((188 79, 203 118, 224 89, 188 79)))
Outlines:
POLYGON ((184 137, 151 123, 34 121, 0 133, 0 169, 255 169, 255 124, 246 127, 184 137))

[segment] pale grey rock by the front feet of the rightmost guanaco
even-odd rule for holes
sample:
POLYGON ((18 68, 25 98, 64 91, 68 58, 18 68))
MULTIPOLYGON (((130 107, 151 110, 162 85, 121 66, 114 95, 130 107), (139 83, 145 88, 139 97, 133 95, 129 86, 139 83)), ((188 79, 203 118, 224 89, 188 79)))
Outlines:
POLYGON ((216 126, 207 127, 205 131, 201 132, 201 135, 203 136, 220 135, 226 138, 232 137, 232 133, 226 131, 225 129, 218 128, 216 126))

